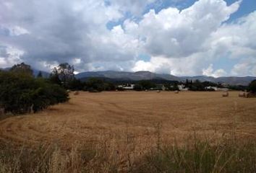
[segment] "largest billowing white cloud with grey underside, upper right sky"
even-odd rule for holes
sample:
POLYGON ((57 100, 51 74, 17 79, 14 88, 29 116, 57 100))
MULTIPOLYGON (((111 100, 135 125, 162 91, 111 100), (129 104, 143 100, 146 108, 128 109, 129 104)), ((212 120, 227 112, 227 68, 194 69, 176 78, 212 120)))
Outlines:
POLYGON ((182 10, 150 10, 140 22, 145 49, 153 56, 180 58, 208 50, 207 40, 239 8, 240 1, 201 0, 182 10))

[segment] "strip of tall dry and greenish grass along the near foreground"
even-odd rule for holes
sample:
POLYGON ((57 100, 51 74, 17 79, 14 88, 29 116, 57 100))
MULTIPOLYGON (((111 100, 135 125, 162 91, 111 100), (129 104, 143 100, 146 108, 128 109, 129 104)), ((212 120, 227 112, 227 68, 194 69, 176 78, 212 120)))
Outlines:
POLYGON ((195 135, 184 144, 163 143, 161 126, 156 130, 155 147, 148 151, 137 151, 128 132, 121 151, 108 138, 70 148, 1 145, 0 172, 256 172, 255 141, 223 137, 212 143, 195 135))

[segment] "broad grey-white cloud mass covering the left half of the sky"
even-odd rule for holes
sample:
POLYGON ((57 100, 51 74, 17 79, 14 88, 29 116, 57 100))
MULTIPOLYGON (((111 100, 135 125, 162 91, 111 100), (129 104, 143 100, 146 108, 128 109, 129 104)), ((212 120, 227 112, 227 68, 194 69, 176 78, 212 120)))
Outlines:
POLYGON ((1 1, 1 6, 0 45, 24 51, 26 63, 72 63, 79 58, 77 68, 86 70, 88 63, 135 57, 131 49, 136 40, 129 37, 128 42, 120 27, 107 30, 108 21, 123 16, 104 1, 1 1))

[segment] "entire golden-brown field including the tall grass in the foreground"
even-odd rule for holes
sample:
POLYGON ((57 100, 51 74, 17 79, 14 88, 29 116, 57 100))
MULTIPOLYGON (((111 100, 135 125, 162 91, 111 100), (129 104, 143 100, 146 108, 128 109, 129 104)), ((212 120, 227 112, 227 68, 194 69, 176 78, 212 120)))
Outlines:
POLYGON ((255 172, 256 99, 80 92, 0 120, 0 172, 255 172))

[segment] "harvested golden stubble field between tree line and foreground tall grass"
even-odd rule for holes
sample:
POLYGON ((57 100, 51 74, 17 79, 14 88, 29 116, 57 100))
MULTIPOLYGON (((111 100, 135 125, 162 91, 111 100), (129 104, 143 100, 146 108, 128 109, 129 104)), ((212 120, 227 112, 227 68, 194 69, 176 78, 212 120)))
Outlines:
POLYGON ((236 133, 256 138, 256 99, 230 92, 80 92, 68 103, 37 114, 0 121, 0 141, 14 144, 58 142, 70 146, 111 139, 136 140, 152 146, 162 141, 182 142, 196 132, 208 138, 236 133))

